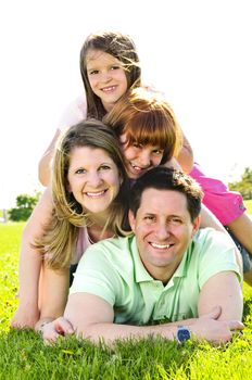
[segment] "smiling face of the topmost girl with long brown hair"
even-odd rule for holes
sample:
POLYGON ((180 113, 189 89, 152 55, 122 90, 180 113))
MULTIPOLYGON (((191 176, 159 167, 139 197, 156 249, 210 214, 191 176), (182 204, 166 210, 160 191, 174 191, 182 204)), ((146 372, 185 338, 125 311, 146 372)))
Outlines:
POLYGON ((92 49, 87 52, 86 63, 90 87, 109 112, 128 89, 122 62, 104 51, 92 49))

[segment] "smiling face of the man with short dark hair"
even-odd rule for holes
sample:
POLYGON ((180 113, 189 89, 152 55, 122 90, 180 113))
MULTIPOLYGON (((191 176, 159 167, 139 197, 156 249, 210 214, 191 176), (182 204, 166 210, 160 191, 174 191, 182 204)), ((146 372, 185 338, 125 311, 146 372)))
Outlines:
POLYGON ((173 276, 199 228, 199 217, 191 221, 182 193, 153 188, 143 191, 136 218, 129 211, 129 223, 144 267, 162 281, 173 276))

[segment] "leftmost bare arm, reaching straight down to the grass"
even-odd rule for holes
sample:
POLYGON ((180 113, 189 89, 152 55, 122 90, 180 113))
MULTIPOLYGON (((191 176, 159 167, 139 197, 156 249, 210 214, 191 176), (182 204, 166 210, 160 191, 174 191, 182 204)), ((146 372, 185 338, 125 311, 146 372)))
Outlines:
POLYGON ((36 239, 42 236, 43 225, 50 223, 52 200, 47 189, 33 211, 23 231, 20 251, 20 305, 11 326, 14 328, 34 328, 39 319, 39 279, 42 258, 33 248, 36 239))

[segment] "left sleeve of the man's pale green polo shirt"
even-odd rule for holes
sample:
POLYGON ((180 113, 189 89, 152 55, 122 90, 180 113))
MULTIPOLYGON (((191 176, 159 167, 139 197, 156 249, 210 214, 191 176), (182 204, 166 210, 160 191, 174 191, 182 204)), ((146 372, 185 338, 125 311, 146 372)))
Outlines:
POLYGON ((115 304, 117 292, 121 292, 118 273, 108 261, 104 249, 96 244, 80 258, 70 289, 70 294, 83 292, 98 295, 111 306, 115 304))

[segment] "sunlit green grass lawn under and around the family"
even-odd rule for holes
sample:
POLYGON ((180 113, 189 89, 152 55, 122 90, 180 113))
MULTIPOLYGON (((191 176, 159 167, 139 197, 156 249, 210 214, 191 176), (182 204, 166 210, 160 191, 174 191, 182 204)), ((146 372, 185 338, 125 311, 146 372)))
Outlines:
POLYGON ((75 338, 45 346, 30 330, 9 330, 16 307, 17 257, 24 224, 0 225, 0 379, 242 379, 252 378, 252 288, 244 286, 242 337, 222 347, 163 339, 117 342, 114 349, 75 338))

